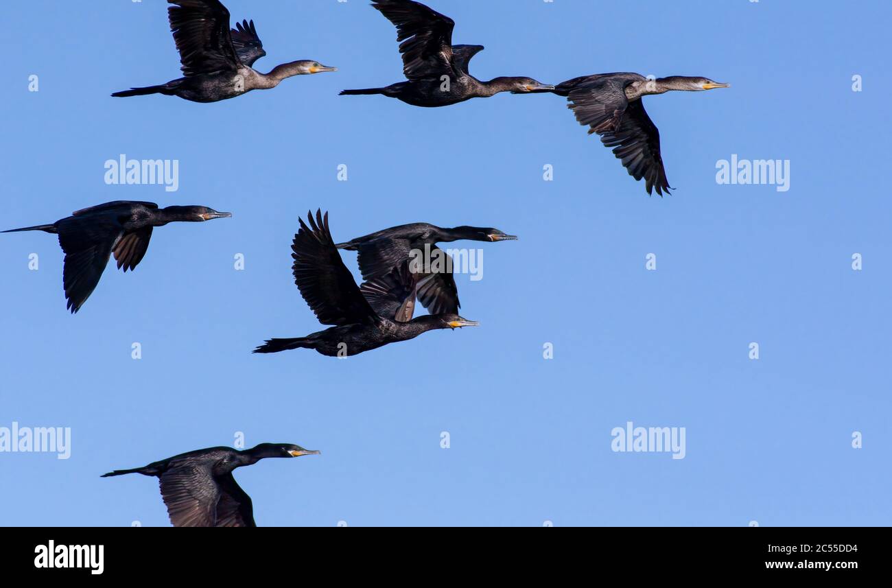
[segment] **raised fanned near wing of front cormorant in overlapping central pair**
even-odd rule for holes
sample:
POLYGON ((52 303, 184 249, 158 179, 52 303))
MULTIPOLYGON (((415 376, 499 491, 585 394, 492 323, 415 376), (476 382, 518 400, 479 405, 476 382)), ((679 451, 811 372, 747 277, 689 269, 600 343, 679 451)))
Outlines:
POLYGON ((341 260, 328 229, 328 213, 303 219, 292 244, 294 283, 323 325, 376 323, 378 316, 359 291, 359 286, 341 260))

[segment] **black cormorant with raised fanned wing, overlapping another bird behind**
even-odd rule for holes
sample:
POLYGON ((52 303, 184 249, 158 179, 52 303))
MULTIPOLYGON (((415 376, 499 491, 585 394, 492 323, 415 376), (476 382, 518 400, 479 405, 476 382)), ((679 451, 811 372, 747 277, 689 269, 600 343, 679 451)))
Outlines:
POLYGON ((455 313, 425 315, 408 322, 395 319, 401 307, 415 300, 415 279, 409 264, 402 264, 376 283, 376 296, 359 290, 350 270, 343 264, 328 228, 328 213, 301 228, 292 245, 294 283, 323 325, 324 331, 293 339, 270 339, 255 353, 315 349, 323 355, 344 357, 377 349, 386 344, 414 339, 438 328, 475 327, 477 323, 455 313))

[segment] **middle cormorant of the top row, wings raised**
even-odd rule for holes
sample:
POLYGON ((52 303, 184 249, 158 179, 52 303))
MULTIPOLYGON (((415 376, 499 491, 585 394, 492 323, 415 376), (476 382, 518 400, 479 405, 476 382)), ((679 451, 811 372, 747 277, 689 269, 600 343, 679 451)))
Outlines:
POLYGON ((374 0, 396 25, 402 41, 403 73, 409 81, 388 87, 344 90, 341 95, 382 94, 414 106, 448 106, 500 92, 544 91, 554 86, 531 78, 496 78, 484 82, 468 73, 468 62, 483 51, 479 45, 452 45, 455 21, 413 0, 374 0))

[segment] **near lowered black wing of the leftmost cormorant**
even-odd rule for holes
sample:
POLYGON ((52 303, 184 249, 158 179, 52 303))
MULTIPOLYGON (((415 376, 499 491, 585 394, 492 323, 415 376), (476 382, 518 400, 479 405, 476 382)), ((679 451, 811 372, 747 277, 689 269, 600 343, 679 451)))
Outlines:
POLYGON ((76 313, 99 284, 124 229, 113 215, 69 217, 56 225, 65 252, 62 285, 68 309, 76 313))

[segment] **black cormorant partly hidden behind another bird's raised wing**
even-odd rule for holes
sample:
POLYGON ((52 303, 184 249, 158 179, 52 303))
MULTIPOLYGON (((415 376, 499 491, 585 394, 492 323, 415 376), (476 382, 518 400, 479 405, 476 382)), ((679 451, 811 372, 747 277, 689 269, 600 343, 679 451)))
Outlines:
MULTIPOLYGON (((337 244, 338 249, 359 252, 359 270, 364 280, 383 278, 403 261, 417 259, 419 253, 425 260, 436 258, 451 260, 449 256, 436 246, 437 243, 448 243, 467 239, 469 241, 513 241, 514 235, 506 235, 498 228, 456 227, 440 228, 425 222, 417 222, 399 227, 385 228, 367 236, 360 236, 347 243, 337 244)), ((414 264, 417 266, 417 262, 414 264)), ((434 264, 432 263, 431 266, 434 264)), ((458 288, 452 277, 450 264, 443 271, 432 270, 431 266, 412 267, 417 281, 417 297, 431 314, 449 312, 458 314, 461 304, 458 302, 458 288)), ((368 286, 363 284, 363 292, 368 286)), ((414 301, 413 301, 414 302, 414 301)), ((411 319, 412 306, 406 311, 411 319)))

